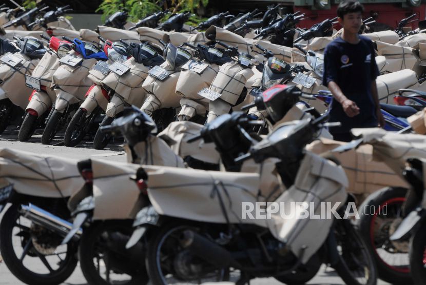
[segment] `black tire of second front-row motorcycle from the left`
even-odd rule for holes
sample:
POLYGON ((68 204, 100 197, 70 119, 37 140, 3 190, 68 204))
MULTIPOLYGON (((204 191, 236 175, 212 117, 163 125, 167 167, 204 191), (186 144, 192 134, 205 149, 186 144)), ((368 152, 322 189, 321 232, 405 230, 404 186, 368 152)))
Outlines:
MULTIPOLYGON (((126 249, 124 246, 126 245, 126 242, 121 243, 119 247, 121 255, 114 252, 113 250, 109 251, 108 245, 109 242, 111 242, 108 239, 105 239, 107 236, 106 233, 112 232, 112 231, 119 231, 120 233, 127 233, 130 237, 132 232, 131 222, 123 222, 123 220, 110 220, 105 222, 96 222, 92 224, 89 228, 84 229, 83 235, 80 239, 80 248, 79 248, 79 256, 80 256, 80 265, 81 270, 83 272, 84 277, 86 278, 87 282, 92 285, 110 285, 112 280, 108 282, 101 276, 100 274, 104 272, 104 270, 100 269, 100 262, 98 261, 98 268, 96 268, 96 264, 94 259, 101 260, 99 258, 99 255, 102 254, 104 259, 115 259, 115 262, 122 263, 121 266, 125 268, 130 268, 135 266, 136 261, 133 259, 128 258, 126 254, 126 249), (102 241, 101 241, 102 240, 102 241), (106 240, 106 241, 105 241, 106 240), (123 247, 123 248, 121 248, 123 247), (111 258, 111 254, 113 254, 113 257, 111 258), (106 257, 106 258, 105 258, 106 257), (109 257, 109 258, 108 258, 109 257)), ((131 251, 132 249, 128 250, 131 251)), ((149 278, 148 274, 146 272, 145 264, 143 262, 144 257, 139 256, 138 260, 141 260, 141 264, 138 267, 137 270, 132 271, 134 275, 127 275, 131 276, 131 279, 127 282, 124 282, 123 280, 120 281, 120 284, 122 285, 145 285, 148 283, 149 278)), ((111 261, 109 261, 112 263, 111 261)), ((105 264, 109 264, 109 262, 105 261, 105 264)), ((105 270, 106 271, 106 270, 105 270)), ((113 272, 119 272, 120 269, 109 269, 109 271, 113 272)), ((109 274, 107 275, 109 276, 109 274)), ((107 277, 109 278, 109 277, 107 277)))

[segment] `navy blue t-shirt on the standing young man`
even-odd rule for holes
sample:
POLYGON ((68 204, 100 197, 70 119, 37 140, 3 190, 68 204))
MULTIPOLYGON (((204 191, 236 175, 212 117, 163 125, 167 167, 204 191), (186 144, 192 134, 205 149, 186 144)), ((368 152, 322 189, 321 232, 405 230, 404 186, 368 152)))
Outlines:
POLYGON ((371 82, 379 75, 373 42, 359 36, 358 44, 350 44, 341 37, 328 44, 324 51, 324 75, 322 85, 334 81, 343 94, 354 101, 359 114, 349 117, 337 100, 330 107, 330 120, 340 121, 341 127, 330 129, 332 133, 348 133, 353 128, 377 127, 376 106, 371 95, 371 82))

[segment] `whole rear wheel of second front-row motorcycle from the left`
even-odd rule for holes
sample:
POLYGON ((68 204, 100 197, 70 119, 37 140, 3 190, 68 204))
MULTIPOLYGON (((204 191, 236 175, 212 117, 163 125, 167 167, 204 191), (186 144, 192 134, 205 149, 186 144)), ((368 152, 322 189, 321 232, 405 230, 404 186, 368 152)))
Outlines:
POLYGON ((91 285, 145 285, 148 282, 145 253, 126 250, 132 233, 131 222, 102 221, 85 229, 80 240, 80 264, 91 285))

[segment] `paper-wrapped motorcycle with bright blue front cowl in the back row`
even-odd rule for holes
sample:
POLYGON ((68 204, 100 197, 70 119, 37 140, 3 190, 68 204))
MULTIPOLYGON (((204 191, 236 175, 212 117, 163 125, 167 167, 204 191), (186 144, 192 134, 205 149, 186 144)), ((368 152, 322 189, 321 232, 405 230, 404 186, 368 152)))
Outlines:
POLYGON ((93 44, 74 38, 72 50, 60 59, 60 67, 52 76, 52 87, 56 93, 54 108, 46 119, 46 128, 42 135, 42 144, 48 145, 55 134, 62 130, 71 119, 71 112, 78 110, 79 101, 91 87, 88 71, 98 60, 107 60, 108 56, 93 44))

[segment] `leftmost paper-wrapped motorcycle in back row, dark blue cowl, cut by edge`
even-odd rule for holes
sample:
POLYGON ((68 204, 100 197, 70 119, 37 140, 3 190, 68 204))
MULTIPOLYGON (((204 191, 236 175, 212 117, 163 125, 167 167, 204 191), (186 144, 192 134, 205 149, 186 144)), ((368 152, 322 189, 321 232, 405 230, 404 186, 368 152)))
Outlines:
POLYGON ((31 87, 26 86, 26 78, 46 53, 40 40, 35 38, 14 37, 20 52, 8 52, 0 60, 0 88, 4 92, 0 97, 0 134, 7 126, 20 126, 24 110, 28 105, 31 87))

